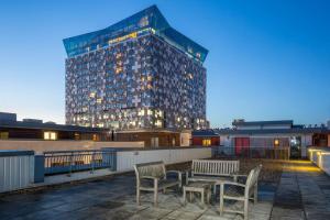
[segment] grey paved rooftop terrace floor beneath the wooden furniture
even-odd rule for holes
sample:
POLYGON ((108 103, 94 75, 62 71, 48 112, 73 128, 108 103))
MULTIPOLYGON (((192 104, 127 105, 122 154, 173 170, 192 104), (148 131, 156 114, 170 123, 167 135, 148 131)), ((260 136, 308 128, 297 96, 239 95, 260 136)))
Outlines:
MULTIPOLYGON (((260 179, 260 202, 251 205, 250 219, 330 219, 330 177, 307 161, 262 161, 265 169, 260 179), (271 167, 283 173, 271 179, 271 167), (268 167, 268 168, 267 168, 268 167), (277 182, 277 180, 279 182, 277 182)), ((253 166, 260 161, 245 161, 253 166)), ((177 168, 176 166, 175 168, 177 168)), ((249 167, 248 167, 249 168, 249 167)), ((198 202, 184 206, 182 194, 142 194, 135 204, 135 177, 132 173, 98 177, 24 194, 0 196, 1 219, 242 219, 239 215, 219 217, 219 198, 204 208, 198 202)), ((230 206, 240 206, 231 204, 230 206)))

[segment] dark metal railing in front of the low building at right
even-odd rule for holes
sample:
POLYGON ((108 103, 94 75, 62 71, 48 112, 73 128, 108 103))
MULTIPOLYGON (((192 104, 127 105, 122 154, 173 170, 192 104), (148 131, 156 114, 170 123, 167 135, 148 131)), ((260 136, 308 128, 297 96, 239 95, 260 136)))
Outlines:
POLYGON ((289 147, 245 147, 213 146, 212 157, 217 158, 268 158, 289 160, 289 147))

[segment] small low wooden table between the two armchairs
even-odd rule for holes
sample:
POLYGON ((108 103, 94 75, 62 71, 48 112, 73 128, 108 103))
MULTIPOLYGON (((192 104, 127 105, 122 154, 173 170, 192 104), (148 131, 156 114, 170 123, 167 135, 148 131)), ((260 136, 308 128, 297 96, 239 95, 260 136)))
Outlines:
POLYGON ((186 195, 187 193, 190 194, 190 201, 193 200, 193 194, 194 193, 199 193, 200 194, 200 200, 201 204, 205 205, 205 195, 207 195, 207 202, 210 202, 211 198, 211 186, 215 183, 210 182, 193 182, 189 183, 187 186, 184 186, 184 202, 186 205, 186 195))

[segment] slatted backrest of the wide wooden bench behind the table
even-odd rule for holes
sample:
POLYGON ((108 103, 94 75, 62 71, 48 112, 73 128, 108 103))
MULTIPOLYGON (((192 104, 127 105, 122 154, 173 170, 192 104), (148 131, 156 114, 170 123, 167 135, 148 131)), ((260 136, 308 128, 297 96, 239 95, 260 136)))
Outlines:
POLYGON ((194 160, 191 175, 230 176, 240 170, 240 161, 194 160))

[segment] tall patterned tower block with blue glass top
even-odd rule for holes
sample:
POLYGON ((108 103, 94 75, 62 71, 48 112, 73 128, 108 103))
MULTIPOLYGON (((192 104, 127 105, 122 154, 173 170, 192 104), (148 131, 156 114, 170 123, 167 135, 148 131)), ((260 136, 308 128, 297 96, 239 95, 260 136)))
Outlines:
POLYGON ((156 6, 64 40, 66 123, 118 131, 204 129, 208 51, 156 6))

